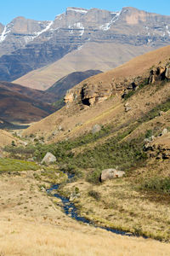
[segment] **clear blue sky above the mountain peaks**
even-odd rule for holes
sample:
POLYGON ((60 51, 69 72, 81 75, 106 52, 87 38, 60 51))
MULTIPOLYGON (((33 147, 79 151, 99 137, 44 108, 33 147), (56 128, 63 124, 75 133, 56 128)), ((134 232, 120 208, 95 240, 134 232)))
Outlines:
POLYGON ((66 7, 99 8, 116 11, 125 6, 133 6, 149 12, 170 15, 170 1, 163 0, 3 0, 0 9, 0 22, 4 25, 17 16, 33 20, 54 20, 56 15, 65 12, 66 7))

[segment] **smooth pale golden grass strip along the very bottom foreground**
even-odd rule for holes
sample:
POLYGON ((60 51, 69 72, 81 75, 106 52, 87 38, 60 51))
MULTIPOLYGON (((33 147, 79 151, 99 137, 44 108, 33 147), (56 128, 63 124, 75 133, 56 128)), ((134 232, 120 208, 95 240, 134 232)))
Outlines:
POLYGON ((1 255, 20 256, 168 256, 170 245, 110 232, 67 228, 15 219, 1 222, 1 255))

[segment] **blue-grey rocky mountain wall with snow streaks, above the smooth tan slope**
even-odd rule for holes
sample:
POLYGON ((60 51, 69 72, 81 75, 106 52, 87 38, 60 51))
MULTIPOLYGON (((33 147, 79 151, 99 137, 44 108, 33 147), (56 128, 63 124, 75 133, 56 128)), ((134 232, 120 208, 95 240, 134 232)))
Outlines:
POLYGON ((150 45, 170 44, 170 16, 133 8, 121 12, 68 8, 54 21, 18 17, 0 24, 0 79, 14 80, 59 60, 86 42, 150 45))

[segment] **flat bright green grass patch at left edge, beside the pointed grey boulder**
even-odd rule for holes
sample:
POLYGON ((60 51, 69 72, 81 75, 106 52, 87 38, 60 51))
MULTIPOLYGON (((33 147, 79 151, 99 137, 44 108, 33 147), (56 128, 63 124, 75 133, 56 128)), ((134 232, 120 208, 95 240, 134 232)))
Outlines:
POLYGON ((39 166, 34 162, 24 160, 14 160, 9 158, 0 159, 0 173, 2 172, 21 172, 34 170, 36 171, 39 166))

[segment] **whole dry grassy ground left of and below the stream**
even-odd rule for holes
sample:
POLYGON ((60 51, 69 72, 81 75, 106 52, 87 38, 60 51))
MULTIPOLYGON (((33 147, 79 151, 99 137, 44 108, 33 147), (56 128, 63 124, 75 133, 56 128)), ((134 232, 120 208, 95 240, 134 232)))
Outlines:
POLYGON ((34 171, 0 176, 0 255, 169 255, 170 244, 114 235, 65 216, 34 171))

